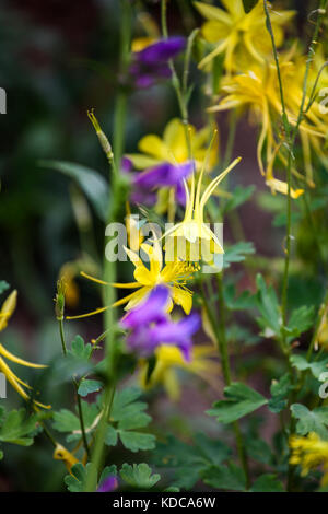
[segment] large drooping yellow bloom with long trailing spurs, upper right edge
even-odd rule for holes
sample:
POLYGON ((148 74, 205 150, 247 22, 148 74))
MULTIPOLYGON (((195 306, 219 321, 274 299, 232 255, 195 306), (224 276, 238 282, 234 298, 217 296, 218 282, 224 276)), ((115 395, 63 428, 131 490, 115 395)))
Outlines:
MULTIPOLYGON (((285 92, 286 112, 292 125, 296 124, 297 109, 302 101, 302 82, 296 77, 296 66, 289 60, 290 55, 282 56, 281 77, 285 92)), ((257 160, 262 175, 266 175, 268 185, 272 190, 285 194, 286 185, 282 186, 274 182, 273 167, 279 157, 285 162, 285 155, 282 153, 285 135, 283 131, 279 135, 279 140, 274 137, 274 127, 280 126, 282 105, 279 92, 277 68, 274 63, 267 62, 259 67, 255 66, 247 72, 230 77, 222 86, 223 97, 219 105, 211 107, 211 112, 222 112, 232 108, 244 110, 247 108, 250 115, 250 121, 261 125, 257 147, 257 160), (265 162, 263 163, 263 152, 265 162)), ((309 142, 312 138, 325 138, 327 128, 313 115, 313 108, 305 114, 304 120, 300 126, 301 142, 303 147, 304 161, 306 163, 306 177, 292 168, 293 174, 300 179, 306 179, 309 186, 314 186, 309 142)), ((293 191, 292 197, 297 198, 301 191, 293 191)))

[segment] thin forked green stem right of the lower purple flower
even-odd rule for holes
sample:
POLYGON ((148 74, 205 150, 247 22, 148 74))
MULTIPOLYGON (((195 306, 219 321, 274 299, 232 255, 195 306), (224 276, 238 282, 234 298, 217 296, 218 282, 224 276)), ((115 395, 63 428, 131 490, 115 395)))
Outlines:
MULTIPOLYGON (((219 351, 219 357, 221 359, 222 365, 222 373, 224 378, 225 386, 230 386, 231 381, 231 367, 230 367, 230 360, 229 360, 229 352, 227 352, 227 343, 226 343, 226 335, 225 335, 225 316, 224 316, 224 301, 223 301, 223 283, 222 283, 222 273, 218 274, 218 288, 219 288, 219 312, 220 312, 220 322, 219 325, 212 312, 212 308, 207 300, 207 294, 204 291, 203 283, 200 282, 201 288, 201 295, 203 300, 203 306, 206 313, 208 315, 209 322, 211 324, 212 330, 214 332, 216 339, 216 347, 219 351)), ((245 444, 243 441, 243 434, 241 431, 241 427, 238 421, 233 423, 233 429, 236 439, 236 446, 238 452, 238 457, 246 477, 246 487, 249 489, 250 487, 250 476, 249 476, 249 468, 248 468, 248 459, 247 453, 245 448, 245 444)))

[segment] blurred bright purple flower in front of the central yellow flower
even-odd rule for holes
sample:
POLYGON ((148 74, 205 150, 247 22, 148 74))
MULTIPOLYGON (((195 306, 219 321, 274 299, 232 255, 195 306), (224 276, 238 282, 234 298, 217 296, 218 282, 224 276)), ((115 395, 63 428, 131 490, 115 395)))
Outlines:
POLYGON ((127 346, 139 355, 149 357, 161 344, 174 344, 189 362, 191 337, 200 328, 200 317, 198 314, 191 314, 178 323, 173 323, 165 312, 168 297, 168 289, 157 285, 141 305, 121 319, 120 325, 131 330, 127 337, 127 346))

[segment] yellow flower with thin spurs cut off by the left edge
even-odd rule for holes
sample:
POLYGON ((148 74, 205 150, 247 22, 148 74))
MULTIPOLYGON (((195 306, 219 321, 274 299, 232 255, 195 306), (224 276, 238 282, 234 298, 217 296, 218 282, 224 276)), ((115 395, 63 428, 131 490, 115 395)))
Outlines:
MULTIPOLYGON (((17 303, 17 292, 12 291, 12 293, 8 296, 8 299, 3 302, 1 311, 0 311, 0 331, 4 330, 4 328, 8 325, 9 318, 13 315, 14 309, 16 307, 17 303)), ((0 372, 4 374, 5 378, 8 382, 12 385, 12 387, 19 393, 24 400, 28 401, 31 398, 25 392, 24 387, 27 389, 31 389, 28 384, 25 384, 25 382, 21 381, 9 367, 9 365, 5 363, 4 359, 8 359, 9 361, 12 361, 16 364, 20 364, 22 366, 26 367, 47 367, 42 364, 33 364, 32 362, 24 361, 23 359, 20 359, 12 353, 10 353, 5 348, 0 344, 0 372)), ((35 406, 38 407, 44 407, 44 408, 50 408, 50 406, 44 406, 43 404, 39 404, 38 401, 34 400, 35 406)))

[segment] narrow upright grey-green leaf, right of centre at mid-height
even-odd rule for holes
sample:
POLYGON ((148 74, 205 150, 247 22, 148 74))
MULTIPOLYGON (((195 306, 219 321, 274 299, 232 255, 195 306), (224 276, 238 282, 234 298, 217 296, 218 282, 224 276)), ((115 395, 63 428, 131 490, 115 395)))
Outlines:
POLYGON ((256 278, 257 293, 256 303, 261 317, 257 318, 257 323, 263 330, 265 337, 273 335, 280 337, 281 315, 277 294, 272 285, 267 288, 265 279, 261 274, 256 278))

